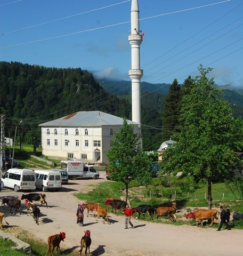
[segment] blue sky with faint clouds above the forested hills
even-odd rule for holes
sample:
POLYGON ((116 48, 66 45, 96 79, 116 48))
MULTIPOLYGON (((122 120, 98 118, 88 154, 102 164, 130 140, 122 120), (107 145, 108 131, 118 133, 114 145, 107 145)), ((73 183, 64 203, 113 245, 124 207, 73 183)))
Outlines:
MULTIPOLYGON (((212 67, 243 89, 242 0, 139 0, 142 81, 179 83, 212 67), (207 6, 205 6, 207 5, 207 6)), ((130 80, 131 1, 0 0, 0 61, 130 80)))

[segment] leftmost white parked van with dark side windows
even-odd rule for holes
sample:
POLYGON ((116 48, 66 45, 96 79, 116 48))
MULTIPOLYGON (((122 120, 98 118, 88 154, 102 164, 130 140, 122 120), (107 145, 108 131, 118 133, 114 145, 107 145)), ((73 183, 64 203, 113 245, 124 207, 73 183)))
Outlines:
POLYGON ((19 190, 35 189, 35 172, 29 169, 9 169, 2 177, 4 187, 19 190))

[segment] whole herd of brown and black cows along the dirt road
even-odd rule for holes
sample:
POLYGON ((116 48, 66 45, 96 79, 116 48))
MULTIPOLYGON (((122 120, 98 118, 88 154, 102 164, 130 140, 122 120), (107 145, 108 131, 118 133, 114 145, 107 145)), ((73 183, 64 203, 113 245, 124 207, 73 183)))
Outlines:
MULTIPOLYGON (((123 199, 123 198, 122 198, 123 199)), ((33 218, 36 222, 37 225, 39 215, 40 215, 40 210, 39 207, 33 203, 33 201, 39 201, 42 206, 43 204, 46 204, 46 195, 45 194, 37 194, 37 193, 31 193, 27 195, 22 195, 21 200, 25 200, 25 205, 27 208, 27 215, 31 215, 31 212, 33 213, 33 218)), ((13 210, 15 210, 14 214, 17 213, 19 210, 19 213, 21 214, 21 201, 18 198, 3 198, 2 199, 2 205, 9 205, 10 207, 10 213, 13 214, 13 210)), ((126 208, 126 205, 128 204, 129 207, 131 207, 131 199, 128 199, 127 203, 124 200, 117 199, 114 197, 107 197, 106 201, 104 202, 105 205, 109 205, 111 207, 111 212, 115 210, 117 213, 117 210, 124 211, 126 208)), ((99 203, 86 203, 84 204, 85 208, 87 209, 87 217, 89 213, 91 212, 93 217, 96 217, 96 221, 102 217, 102 222, 109 224, 108 220, 108 214, 107 214, 107 209, 106 207, 100 206, 99 203)), ((157 204, 157 205, 148 205, 148 204, 142 204, 138 205, 135 207, 131 207, 133 214, 137 214, 137 218, 140 219, 141 214, 143 214, 143 219, 145 219, 145 214, 148 214, 150 216, 150 220, 153 220, 153 217, 155 214, 157 214, 156 220, 159 221, 161 220, 161 217, 167 216, 169 217, 169 220, 175 220, 176 215, 175 213, 177 212, 176 209, 176 202, 171 202, 171 203, 166 203, 166 204, 157 204)), ((196 220, 196 225, 198 227, 198 222, 201 222, 202 226, 202 221, 203 220, 211 220, 211 225, 213 224, 214 219, 218 222, 217 218, 217 210, 197 210, 193 212, 188 212, 186 214, 187 219, 195 219, 196 220)), ((2 229, 2 221, 3 219, 5 220, 4 213, 0 212, 0 229, 2 229)), ((6 222, 6 220, 5 220, 6 222)), ((6 222, 7 225, 9 223, 6 222)), ((56 252, 60 251, 60 242, 64 241, 64 238, 66 238, 66 234, 64 232, 60 232, 60 234, 56 234, 53 236, 48 237, 47 243, 48 243, 48 253, 50 255, 53 255, 54 248, 56 247, 56 252)), ((80 255, 82 253, 83 247, 85 247, 85 255, 87 255, 87 249, 90 252, 90 245, 91 245, 91 232, 90 230, 84 231, 84 236, 82 237, 80 241, 80 255)))

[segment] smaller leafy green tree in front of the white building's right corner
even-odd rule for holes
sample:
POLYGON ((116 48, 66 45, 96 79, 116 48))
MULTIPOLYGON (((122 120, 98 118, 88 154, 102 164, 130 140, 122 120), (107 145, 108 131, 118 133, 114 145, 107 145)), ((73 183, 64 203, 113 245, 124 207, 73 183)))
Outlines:
POLYGON ((112 140, 110 150, 107 151, 107 158, 111 178, 122 181, 126 186, 126 202, 128 184, 132 179, 137 179, 145 186, 148 184, 150 159, 140 147, 139 137, 134 132, 134 126, 127 124, 125 118, 123 119, 123 126, 112 140), (142 178, 142 175, 144 175, 144 178, 142 178))

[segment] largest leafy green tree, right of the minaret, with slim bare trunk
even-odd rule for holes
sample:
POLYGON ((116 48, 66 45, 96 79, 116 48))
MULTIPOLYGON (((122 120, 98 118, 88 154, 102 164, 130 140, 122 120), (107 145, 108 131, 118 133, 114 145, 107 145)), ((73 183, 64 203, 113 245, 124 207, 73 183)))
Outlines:
MULTIPOLYGON (((165 150, 162 172, 191 176, 195 180, 206 179, 208 207, 212 208, 212 182, 230 179, 239 163, 234 153, 238 148, 237 122, 229 102, 223 101, 214 81, 206 77, 210 68, 199 66, 200 76, 193 79, 188 93, 181 102, 183 123, 176 141, 165 150)), ((241 141, 243 134, 240 135, 241 141)))

